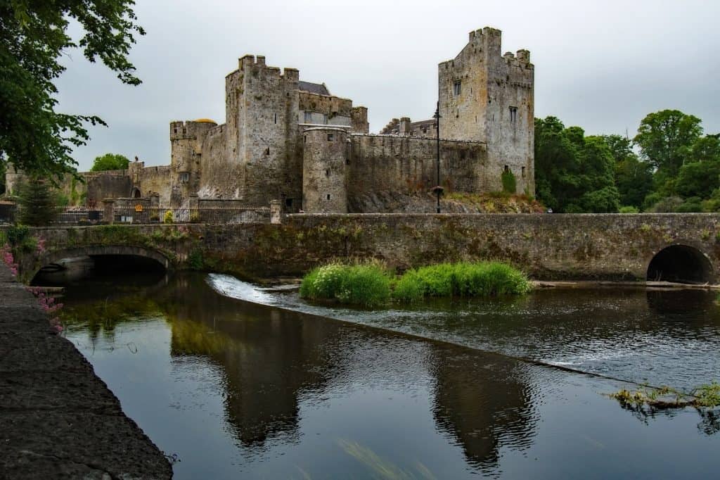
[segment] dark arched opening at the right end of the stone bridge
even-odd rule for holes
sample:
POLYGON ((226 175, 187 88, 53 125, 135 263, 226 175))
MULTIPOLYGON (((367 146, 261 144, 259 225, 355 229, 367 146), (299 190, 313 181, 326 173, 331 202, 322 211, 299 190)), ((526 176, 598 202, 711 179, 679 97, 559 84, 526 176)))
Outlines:
POLYGON ((689 244, 672 244, 653 255, 647 265, 647 280, 677 283, 716 283, 708 255, 689 244))

